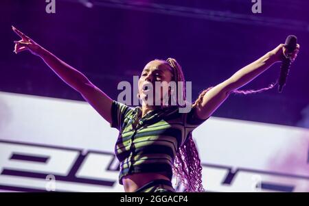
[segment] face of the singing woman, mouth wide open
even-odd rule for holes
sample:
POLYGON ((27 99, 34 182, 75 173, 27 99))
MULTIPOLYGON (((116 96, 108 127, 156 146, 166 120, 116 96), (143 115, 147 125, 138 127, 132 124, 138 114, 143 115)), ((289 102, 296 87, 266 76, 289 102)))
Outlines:
MULTIPOLYGON (((141 72, 141 77, 139 78, 139 96, 143 100, 148 100, 152 105, 155 105, 155 96, 160 96, 160 102, 163 96, 170 95, 170 90, 168 86, 164 83, 169 83, 172 81, 172 68, 164 64, 163 61, 153 60, 146 64, 145 68, 141 72), (162 83, 159 89, 156 89, 155 82, 162 83), (153 100, 148 99, 147 94, 152 94, 153 100)), ((150 95, 151 96, 151 95, 150 95)), ((145 101, 144 101, 145 102, 145 101)))

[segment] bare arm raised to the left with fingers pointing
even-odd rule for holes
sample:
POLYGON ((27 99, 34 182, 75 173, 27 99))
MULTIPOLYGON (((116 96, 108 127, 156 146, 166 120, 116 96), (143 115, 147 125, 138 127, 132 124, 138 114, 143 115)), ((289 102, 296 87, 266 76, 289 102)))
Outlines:
POLYGON ((41 57, 44 62, 52 68, 54 73, 58 75, 71 88, 80 92, 83 98, 105 119, 111 123, 111 105, 113 100, 109 98, 102 90, 89 81, 80 71, 69 66, 62 60, 58 59, 54 54, 50 53, 31 38, 25 36, 18 29, 12 27, 13 31, 18 34, 22 40, 14 41, 15 53, 28 50, 34 55, 41 57))

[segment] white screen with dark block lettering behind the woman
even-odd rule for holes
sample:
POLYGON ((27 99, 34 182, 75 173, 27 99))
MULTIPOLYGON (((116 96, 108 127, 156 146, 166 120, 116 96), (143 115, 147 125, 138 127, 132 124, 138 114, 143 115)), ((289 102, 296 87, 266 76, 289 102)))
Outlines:
MULTIPOLYGON (((308 129, 211 117, 193 135, 209 192, 309 192, 308 129)), ((116 138, 86 102, 0 92, 0 190, 124 192, 116 138)))

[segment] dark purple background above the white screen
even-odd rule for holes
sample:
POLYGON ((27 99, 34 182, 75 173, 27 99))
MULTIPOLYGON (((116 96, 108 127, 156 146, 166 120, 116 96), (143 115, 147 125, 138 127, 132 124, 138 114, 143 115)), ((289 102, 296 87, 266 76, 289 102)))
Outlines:
MULTIPOLYGON (((60 57, 106 94, 117 99, 117 83, 133 81, 150 60, 174 57, 198 92, 231 77, 286 36, 301 44, 283 93, 231 95, 213 116, 309 128, 309 1, 263 0, 253 14, 251 0, 211 1, 56 0, 47 14, 44 0, 0 3, 0 90, 84 101, 31 53, 13 53, 19 40, 11 25, 60 57)), ((279 77, 275 64, 240 88, 260 89, 279 77)))

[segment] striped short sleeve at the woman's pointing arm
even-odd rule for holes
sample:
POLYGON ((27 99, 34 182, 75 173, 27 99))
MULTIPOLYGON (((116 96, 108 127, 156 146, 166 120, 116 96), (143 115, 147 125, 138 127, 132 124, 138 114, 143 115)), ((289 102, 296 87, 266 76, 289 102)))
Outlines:
POLYGON ((111 116, 112 116, 111 127, 121 131, 124 119, 126 118, 128 112, 130 112, 130 110, 133 109, 123 103, 119 103, 118 101, 113 100, 111 106, 111 116))

